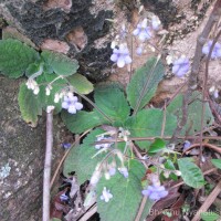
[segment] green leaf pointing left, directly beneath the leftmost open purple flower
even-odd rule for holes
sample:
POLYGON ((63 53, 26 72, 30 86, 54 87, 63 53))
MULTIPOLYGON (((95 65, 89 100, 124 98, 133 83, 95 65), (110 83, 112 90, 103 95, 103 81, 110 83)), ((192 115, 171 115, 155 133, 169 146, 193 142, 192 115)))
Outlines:
POLYGON ((108 123, 95 112, 84 110, 77 112, 74 115, 66 110, 62 110, 62 119, 65 126, 75 134, 81 134, 87 129, 108 123))

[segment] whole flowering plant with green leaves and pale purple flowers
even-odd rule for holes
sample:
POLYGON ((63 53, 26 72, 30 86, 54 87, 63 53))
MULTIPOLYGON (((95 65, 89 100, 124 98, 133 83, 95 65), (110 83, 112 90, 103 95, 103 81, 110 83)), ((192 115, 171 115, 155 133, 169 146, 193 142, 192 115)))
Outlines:
MULTIPOLYGON (((160 21, 155 15, 138 22, 133 36, 138 41, 136 52, 139 55, 146 50, 145 43, 148 44, 159 29, 160 21)), ((128 33, 123 25, 119 36, 112 43, 110 60, 120 69, 133 63, 126 41, 128 33)), ((209 41, 202 53, 208 55, 211 44, 209 41)), ((164 109, 146 107, 166 73, 160 55, 148 57, 144 66, 135 71, 126 92, 119 84, 99 84, 95 87, 92 102, 85 94, 94 87, 76 74, 78 64, 75 60, 50 51, 38 53, 17 40, 1 41, 0 50, 6 52, 0 59, 0 70, 6 75, 18 78, 25 73, 28 77, 19 92, 20 109, 25 122, 36 125, 42 109, 53 105, 73 134, 91 130, 78 147, 70 150, 63 173, 69 177, 74 170, 80 183, 90 180, 84 204, 88 203, 91 196, 96 196, 102 220, 115 220, 116 213, 118 220, 133 221, 138 214, 145 219, 156 202, 167 199, 171 191, 167 182, 178 180, 180 176, 189 187, 204 185, 200 168, 189 158, 178 159, 179 152, 164 139, 172 138, 177 129, 183 95, 177 95, 164 109), (8 56, 13 49, 13 60, 24 57, 23 54, 28 59, 11 66, 8 56), (84 106, 80 96, 93 106, 91 112, 82 110, 84 106), (147 203, 140 213, 143 199, 147 199, 147 203)), ((219 43, 214 45, 211 57, 220 57, 219 43)), ((190 61, 186 56, 172 59, 170 63, 171 73, 178 77, 186 76, 190 71, 190 61)), ((209 105, 201 106, 200 93, 193 93, 190 99, 181 135, 187 131, 193 135, 213 120, 209 105), (200 113, 204 114, 201 124, 200 113)), ((190 145, 186 140, 183 150, 190 145)), ((63 193, 60 199, 69 203, 70 198, 63 193)))

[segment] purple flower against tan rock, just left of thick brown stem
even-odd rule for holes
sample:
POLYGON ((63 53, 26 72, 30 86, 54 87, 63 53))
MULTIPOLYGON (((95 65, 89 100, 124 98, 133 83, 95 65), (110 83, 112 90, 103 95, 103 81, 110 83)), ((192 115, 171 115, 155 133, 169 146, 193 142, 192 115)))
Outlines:
POLYGON ((190 69, 189 59, 185 56, 179 57, 172 64, 172 73, 178 77, 182 77, 190 69))

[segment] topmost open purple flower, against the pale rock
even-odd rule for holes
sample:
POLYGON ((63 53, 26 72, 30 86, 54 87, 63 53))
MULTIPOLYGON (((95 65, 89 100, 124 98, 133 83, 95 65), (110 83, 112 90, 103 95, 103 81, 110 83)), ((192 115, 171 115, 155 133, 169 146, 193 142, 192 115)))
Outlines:
POLYGON ((138 39, 143 42, 151 39, 151 28, 147 27, 147 19, 144 19, 137 24, 137 28, 133 31, 133 34, 138 36, 138 39))

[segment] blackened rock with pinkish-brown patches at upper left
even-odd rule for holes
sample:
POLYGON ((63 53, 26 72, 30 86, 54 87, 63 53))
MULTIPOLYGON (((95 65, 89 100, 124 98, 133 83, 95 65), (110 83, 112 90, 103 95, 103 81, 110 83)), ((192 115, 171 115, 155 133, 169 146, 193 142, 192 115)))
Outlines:
POLYGON ((0 14, 38 48, 74 56, 80 61, 82 74, 101 81, 109 74, 105 70, 110 66, 109 40, 101 48, 95 43, 109 32, 110 22, 106 19, 112 19, 113 11, 98 8, 98 3, 97 0, 2 0, 0 14))

